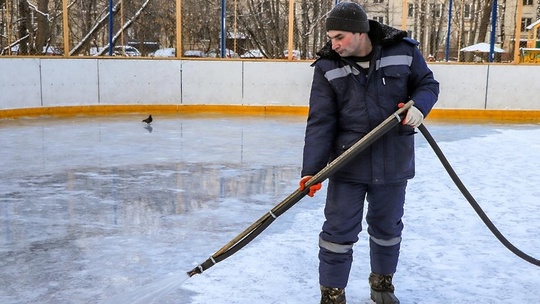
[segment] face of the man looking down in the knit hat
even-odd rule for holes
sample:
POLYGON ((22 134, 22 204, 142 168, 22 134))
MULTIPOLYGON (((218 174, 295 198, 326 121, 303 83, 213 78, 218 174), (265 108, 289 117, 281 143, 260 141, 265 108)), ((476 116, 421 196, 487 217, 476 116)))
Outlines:
POLYGON ((326 35, 332 41, 332 49, 341 57, 366 56, 371 52, 371 43, 366 33, 331 30, 326 35))

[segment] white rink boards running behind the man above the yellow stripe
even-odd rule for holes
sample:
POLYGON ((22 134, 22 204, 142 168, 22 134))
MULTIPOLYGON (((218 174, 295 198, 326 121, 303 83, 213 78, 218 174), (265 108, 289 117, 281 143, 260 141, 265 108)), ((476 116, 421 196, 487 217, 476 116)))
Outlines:
MULTIPOLYGON (((1 58, 0 109, 308 105, 311 61, 1 58)), ((540 109, 540 65, 431 64, 440 109, 540 109), (487 85, 487 89, 486 89, 487 85)))

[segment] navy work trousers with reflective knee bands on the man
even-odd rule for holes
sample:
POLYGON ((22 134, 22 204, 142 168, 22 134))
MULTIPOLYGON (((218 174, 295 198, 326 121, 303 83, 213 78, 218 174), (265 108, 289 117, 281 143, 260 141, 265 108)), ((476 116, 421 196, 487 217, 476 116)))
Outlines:
POLYGON ((395 273, 403 230, 403 205, 407 181, 364 184, 330 179, 320 233, 319 283, 345 288, 352 265, 353 244, 362 231, 364 201, 370 235, 371 271, 395 273))

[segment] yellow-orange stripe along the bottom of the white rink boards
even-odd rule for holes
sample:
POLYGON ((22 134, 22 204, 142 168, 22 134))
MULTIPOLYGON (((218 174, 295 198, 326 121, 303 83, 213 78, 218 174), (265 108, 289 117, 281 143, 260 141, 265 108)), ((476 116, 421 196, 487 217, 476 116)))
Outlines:
MULTIPOLYGON (((36 116, 144 114, 306 116, 307 106, 280 105, 89 105, 0 110, 0 118, 36 116)), ((429 120, 540 122, 540 110, 433 109, 429 120)))

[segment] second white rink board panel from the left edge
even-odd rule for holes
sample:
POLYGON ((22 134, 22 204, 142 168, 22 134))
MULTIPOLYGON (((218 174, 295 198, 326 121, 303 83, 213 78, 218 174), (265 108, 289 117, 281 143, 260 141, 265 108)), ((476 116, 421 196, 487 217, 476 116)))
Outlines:
POLYGON ((97 60, 41 60, 43 106, 98 103, 97 60))

